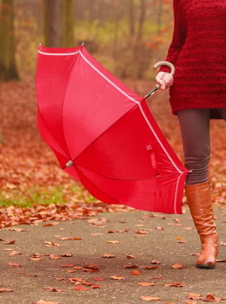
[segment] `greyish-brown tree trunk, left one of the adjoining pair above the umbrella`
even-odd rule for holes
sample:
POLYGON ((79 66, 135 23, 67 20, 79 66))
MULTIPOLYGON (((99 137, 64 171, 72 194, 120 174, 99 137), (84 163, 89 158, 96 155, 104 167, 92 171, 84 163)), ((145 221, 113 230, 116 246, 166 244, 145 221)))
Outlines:
POLYGON ((60 0, 43 0, 44 6, 44 45, 46 47, 60 47, 60 0))

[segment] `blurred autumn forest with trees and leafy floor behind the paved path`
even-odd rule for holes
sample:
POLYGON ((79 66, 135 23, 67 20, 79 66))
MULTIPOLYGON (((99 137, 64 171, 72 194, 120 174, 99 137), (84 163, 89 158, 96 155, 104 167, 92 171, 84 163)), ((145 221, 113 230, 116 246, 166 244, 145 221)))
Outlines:
MULTIPOLYGON (((156 84, 153 65, 166 58, 172 39, 172 0, 0 0, 0 4, 0 206, 91 202, 94 198, 61 170, 37 130, 39 43, 75 47, 84 42, 101 64, 145 96, 156 84)), ((168 90, 157 91, 147 102, 183 162, 180 129, 171 113, 168 90)), ((221 203, 226 197, 223 128, 224 121, 211 122, 209 178, 213 200, 221 203)), ((4 210, 6 224, 8 217, 14 218, 13 210, 15 216, 19 212, 4 210)))

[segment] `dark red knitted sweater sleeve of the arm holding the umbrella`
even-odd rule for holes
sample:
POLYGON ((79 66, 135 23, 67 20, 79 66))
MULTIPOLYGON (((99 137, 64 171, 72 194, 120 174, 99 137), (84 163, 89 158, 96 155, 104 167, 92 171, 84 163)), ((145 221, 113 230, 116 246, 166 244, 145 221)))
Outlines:
MULTIPOLYGON (((165 59, 165 61, 171 62, 174 66, 176 65, 176 60, 186 40, 186 27, 185 22, 182 21, 182 14, 179 2, 179 0, 173 0, 173 36, 172 42, 168 49, 168 54, 165 59)), ((168 66, 163 65, 160 67, 158 72, 160 71, 170 73, 170 68, 168 66)))

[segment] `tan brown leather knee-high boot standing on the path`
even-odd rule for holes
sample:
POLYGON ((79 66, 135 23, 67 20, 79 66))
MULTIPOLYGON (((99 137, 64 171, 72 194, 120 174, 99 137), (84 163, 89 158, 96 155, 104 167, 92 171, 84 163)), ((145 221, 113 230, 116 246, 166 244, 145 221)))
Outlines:
POLYGON ((202 250, 196 266, 212 269, 215 266, 215 259, 218 254, 218 237, 216 224, 213 222, 209 181, 195 185, 185 185, 185 193, 202 243, 202 250))

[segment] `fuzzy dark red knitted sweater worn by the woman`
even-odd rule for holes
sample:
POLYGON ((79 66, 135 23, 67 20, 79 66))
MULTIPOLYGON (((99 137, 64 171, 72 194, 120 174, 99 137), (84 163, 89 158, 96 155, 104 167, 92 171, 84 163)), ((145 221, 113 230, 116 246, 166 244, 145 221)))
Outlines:
MULTIPOLYGON (((172 113, 226 107, 226 1, 173 0, 174 30, 166 61, 175 66, 172 113)), ((166 66, 159 71, 170 72, 166 66)))

